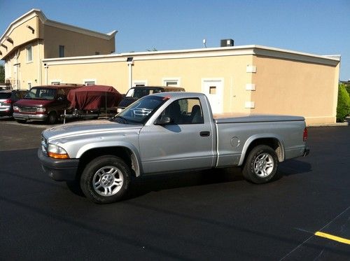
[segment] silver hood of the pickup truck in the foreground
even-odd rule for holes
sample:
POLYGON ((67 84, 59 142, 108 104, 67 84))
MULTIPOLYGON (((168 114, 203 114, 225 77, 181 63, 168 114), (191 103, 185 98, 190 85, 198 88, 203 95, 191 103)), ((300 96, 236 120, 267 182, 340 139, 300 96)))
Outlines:
POLYGON ((59 125, 43 131, 46 139, 60 139, 67 136, 75 136, 82 134, 96 134, 99 132, 113 132, 127 129, 141 129, 143 125, 128 125, 109 120, 87 120, 83 122, 68 123, 59 125))

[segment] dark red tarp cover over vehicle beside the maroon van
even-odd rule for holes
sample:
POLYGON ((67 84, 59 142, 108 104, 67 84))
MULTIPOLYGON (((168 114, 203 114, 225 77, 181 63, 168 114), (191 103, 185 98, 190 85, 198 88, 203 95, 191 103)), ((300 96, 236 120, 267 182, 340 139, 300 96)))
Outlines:
POLYGON ((70 90, 67 99, 78 110, 99 110, 118 106, 122 95, 112 86, 89 85, 70 90))

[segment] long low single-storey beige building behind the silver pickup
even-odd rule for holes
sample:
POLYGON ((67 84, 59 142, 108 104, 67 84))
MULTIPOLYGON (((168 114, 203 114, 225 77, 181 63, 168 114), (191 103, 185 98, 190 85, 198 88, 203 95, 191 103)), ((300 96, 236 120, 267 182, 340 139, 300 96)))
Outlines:
MULTIPOLYGON (((57 50, 59 39, 42 41, 44 50, 55 50, 51 46, 55 44, 57 50)), ((24 67, 34 71, 37 83, 30 74, 22 73, 21 80, 33 85, 112 85, 121 93, 135 85, 176 85, 207 94, 214 113, 302 115, 309 125, 336 120, 339 56, 260 45, 104 55, 109 52, 108 49, 100 51, 100 55, 92 51, 76 57, 42 56, 37 69, 27 63, 21 67, 22 71, 24 67)), ((8 57, 5 56, 6 61, 8 57)), ((15 74, 6 71, 6 76, 13 78, 15 74)))

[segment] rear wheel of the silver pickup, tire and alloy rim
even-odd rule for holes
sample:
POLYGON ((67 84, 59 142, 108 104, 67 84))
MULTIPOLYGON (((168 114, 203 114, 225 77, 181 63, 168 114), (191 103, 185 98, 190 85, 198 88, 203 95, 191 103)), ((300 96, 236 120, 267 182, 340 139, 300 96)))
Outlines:
POLYGON ((278 165, 276 152, 269 146, 259 145, 248 154, 242 174, 247 181, 263 184, 279 178, 278 165))

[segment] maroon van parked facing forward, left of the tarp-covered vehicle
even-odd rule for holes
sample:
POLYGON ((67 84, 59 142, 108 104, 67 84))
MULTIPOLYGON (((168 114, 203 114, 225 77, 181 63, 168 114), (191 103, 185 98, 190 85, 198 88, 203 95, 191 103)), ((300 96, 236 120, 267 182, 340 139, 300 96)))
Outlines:
POLYGON ((85 85, 60 84, 32 87, 22 100, 13 105, 13 118, 18 122, 41 120, 54 124, 69 108, 66 98, 69 90, 85 85))

